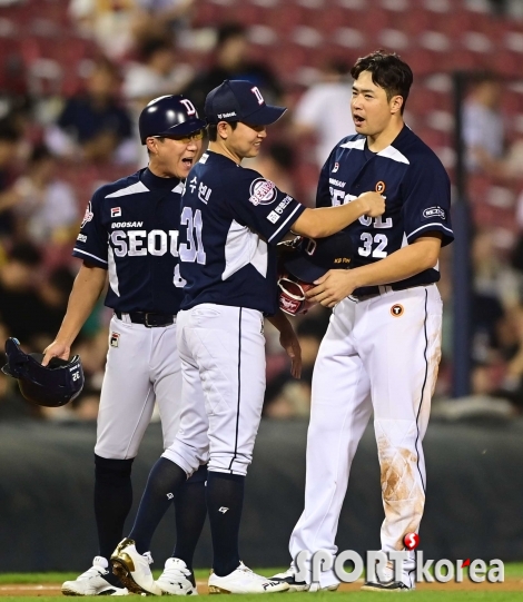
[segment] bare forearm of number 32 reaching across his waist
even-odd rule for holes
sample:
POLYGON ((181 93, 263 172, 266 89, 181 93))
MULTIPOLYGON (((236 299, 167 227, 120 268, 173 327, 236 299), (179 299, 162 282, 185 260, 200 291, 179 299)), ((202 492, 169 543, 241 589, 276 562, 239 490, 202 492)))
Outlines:
POLYGON ((427 237, 428 240, 414 243, 396 250, 385 259, 349 270, 355 278, 356 287, 384 285, 405 280, 437 264, 441 239, 427 237))

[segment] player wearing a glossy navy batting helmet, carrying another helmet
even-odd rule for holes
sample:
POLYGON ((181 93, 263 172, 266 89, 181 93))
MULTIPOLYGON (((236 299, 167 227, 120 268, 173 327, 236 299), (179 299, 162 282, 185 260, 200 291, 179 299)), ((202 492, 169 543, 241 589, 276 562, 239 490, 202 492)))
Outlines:
MULTIPOLYGON (((46 349, 67 359, 107 275, 106 305, 115 310, 95 447, 95 515, 99 555, 62 585, 66 595, 127 593, 108 560, 122 537, 132 503, 131 466, 158 404, 164 446, 179 424, 180 362, 176 314, 181 302, 178 268, 179 205, 184 179, 201 150, 206 124, 189 99, 164 96, 139 117, 149 166, 99 188, 90 200, 72 255, 83 260, 56 341, 46 349)), ((177 543, 160 584, 172 594, 196 593, 193 553, 205 517, 203 466, 175 501, 177 543)), ((150 557, 150 556, 149 556, 150 557)))

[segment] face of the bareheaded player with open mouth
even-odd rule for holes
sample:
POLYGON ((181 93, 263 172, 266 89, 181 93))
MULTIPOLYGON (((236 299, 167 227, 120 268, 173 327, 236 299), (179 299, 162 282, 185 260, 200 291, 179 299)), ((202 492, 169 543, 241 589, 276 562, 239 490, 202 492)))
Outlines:
POLYGON ((351 110, 356 131, 377 138, 401 118, 403 98, 387 99, 384 88, 373 82, 371 71, 362 71, 353 85, 351 110))

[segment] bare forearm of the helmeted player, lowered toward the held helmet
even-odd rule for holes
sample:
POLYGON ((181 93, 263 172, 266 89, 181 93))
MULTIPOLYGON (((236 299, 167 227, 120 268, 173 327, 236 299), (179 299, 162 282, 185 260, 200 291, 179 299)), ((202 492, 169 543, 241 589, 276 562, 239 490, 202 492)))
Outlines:
POLYGON ((80 268, 56 341, 68 346, 72 344, 103 289, 106 275, 107 272, 102 268, 85 265, 80 268))

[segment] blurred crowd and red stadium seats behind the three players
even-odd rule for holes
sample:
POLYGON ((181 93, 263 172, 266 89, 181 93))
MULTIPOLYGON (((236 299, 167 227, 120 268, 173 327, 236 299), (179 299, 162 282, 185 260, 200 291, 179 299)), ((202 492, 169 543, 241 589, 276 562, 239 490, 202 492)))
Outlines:
MULTIPOLYGON (((147 165, 136 122, 150 99, 186 93, 201 109, 224 79, 253 81, 267 101, 289 110, 249 164, 312 206, 328 152, 354 131, 348 70, 378 47, 412 66, 406 122, 451 177, 452 71, 471 72, 463 137, 474 218, 473 374, 472 396, 461 407, 521 412, 520 0, 0 0, 0 341, 16 336, 30 352, 52 341, 79 268, 70 251, 91 194, 147 165)), ((452 315, 452 253, 445 248, 441 261, 441 407, 451 396, 452 333, 460 327, 452 315)), ((300 381, 288 375, 267 325, 266 416, 308 414, 328 317, 318 306, 294 320, 300 381)), ((0 374, 0 420, 96 420, 109 319, 100 299, 75 345, 87 375, 79 399, 43 411, 0 374)))

